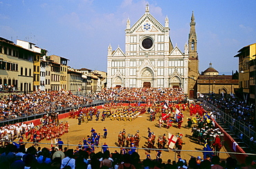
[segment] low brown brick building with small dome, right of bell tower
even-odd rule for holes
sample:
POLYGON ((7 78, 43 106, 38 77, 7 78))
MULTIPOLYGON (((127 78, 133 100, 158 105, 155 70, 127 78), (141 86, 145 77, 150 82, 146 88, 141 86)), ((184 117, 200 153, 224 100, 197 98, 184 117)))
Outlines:
POLYGON ((233 79, 232 75, 219 75, 219 72, 212 68, 212 63, 196 81, 198 96, 199 94, 232 95, 238 86, 238 79, 233 79))

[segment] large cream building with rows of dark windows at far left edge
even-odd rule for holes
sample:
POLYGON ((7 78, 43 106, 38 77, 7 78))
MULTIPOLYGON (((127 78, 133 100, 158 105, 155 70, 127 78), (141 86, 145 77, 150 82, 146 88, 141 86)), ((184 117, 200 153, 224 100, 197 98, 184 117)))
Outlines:
POLYGON ((33 61, 40 54, 0 37, 0 84, 24 93, 33 91, 33 61))

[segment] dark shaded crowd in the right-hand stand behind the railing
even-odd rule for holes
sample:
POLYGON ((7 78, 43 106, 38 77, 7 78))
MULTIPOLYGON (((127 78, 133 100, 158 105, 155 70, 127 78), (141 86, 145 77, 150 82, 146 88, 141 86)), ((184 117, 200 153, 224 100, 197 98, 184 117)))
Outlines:
POLYGON ((254 128, 255 114, 253 104, 248 105, 245 101, 240 101, 237 98, 225 97, 221 97, 219 99, 208 98, 207 101, 237 121, 241 121, 248 127, 254 128))

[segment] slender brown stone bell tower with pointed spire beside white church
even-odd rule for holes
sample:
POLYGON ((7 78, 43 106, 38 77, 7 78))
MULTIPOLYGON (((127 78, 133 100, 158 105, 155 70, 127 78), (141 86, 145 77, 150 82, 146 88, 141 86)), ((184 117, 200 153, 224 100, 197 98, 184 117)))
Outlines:
POLYGON ((196 22, 194 21, 194 12, 192 12, 190 21, 190 34, 188 34, 188 97, 196 97, 196 80, 199 77, 199 57, 197 53, 196 22))

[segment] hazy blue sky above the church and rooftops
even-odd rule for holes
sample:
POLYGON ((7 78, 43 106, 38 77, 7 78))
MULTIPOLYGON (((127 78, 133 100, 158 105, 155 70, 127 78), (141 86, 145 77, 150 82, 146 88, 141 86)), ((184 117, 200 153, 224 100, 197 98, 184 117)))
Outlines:
POLYGON ((145 14, 163 26, 169 18, 172 43, 184 52, 192 11, 196 21, 200 73, 238 70, 237 51, 256 43, 255 0, 0 0, 0 37, 30 41, 69 59, 71 68, 107 72, 107 47, 125 52, 125 28, 145 14))

